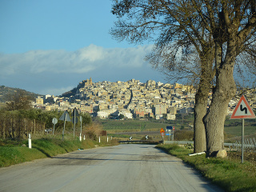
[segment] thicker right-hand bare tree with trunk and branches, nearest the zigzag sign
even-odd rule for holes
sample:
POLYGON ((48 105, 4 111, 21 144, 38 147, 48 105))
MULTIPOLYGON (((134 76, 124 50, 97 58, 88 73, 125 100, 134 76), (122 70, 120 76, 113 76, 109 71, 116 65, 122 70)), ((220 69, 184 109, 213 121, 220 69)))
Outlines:
MULTIPOLYGON (((227 106, 236 93, 234 66, 238 55, 254 49, 256 13, 254 1, 193 1, 215 43, 216 86, 206 117, 206 151, 214 156, 224 148, 227 106)), ((250 52, 249 52, 250 53, 250 52)), ((254 58, 254 55, 251 55, 254 58)), ((249 66, 254 66, 254 59, 249 66)), ((237 64, 239 64, 237 62, 237 64)))

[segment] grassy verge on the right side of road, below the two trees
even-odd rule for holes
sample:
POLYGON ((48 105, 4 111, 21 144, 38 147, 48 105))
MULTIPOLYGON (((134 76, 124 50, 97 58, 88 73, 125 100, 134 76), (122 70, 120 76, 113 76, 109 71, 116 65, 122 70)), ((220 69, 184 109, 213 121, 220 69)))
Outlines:
POLYGON ((158 145, 168 154, 181 158, 225 191, 256 191, 256 165, 231 158, 206 158, 205 154, 189 156, 191 150, 178 145, 158 145))

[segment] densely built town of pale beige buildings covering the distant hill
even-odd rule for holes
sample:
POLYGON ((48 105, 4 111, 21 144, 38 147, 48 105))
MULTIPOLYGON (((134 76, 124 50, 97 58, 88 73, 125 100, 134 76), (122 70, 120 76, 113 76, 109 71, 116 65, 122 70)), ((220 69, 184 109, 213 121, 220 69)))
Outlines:
MULTIPOLYGON (((164 84, 131 79, 127 82, 80 82, 69 97, 38 96, 33 106, 42 110, 73 110, 99 118, 156 118, 175 120, 176 114, 193 113, 196 89, 175 83, 164 84)), ((209 98, 211 97, 209 93, 209 98)), ((256 109, 256 89, 246 94, 256 109)), ((227 114, 232 114, 239 98, 230 101, 227 114)), ((210 99, 209 99, 210 104, 210 99)))

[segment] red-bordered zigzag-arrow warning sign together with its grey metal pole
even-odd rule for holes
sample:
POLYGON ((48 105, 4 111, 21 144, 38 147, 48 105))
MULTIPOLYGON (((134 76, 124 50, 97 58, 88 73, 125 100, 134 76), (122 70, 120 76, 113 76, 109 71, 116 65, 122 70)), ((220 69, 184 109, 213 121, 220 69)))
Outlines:
POLYGON ((242 163, 243 163, 243 151, 244 151, 244 132, 245 132, 245 118, 255 118, 254 111, 250 109, 246 98, 242 97, 238 101, 238 105, 234 108, 234 112, 230 117, 231 119, 242 118, 242 163))

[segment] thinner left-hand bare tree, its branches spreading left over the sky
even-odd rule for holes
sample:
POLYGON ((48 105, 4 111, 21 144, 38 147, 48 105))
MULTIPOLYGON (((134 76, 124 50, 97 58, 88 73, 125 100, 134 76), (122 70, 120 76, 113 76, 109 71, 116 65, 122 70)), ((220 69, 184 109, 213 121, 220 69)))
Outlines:
POLYGON ((118 22, 111 34, 118 40, 141 42, 155 38, 152 53, 146 58, 169 78, 198 81, 194 107, 194 152, 206 150, 202 118, 214 78, 214 40, 194 14, 192 2, 120 1, 113 14, 118 22))

